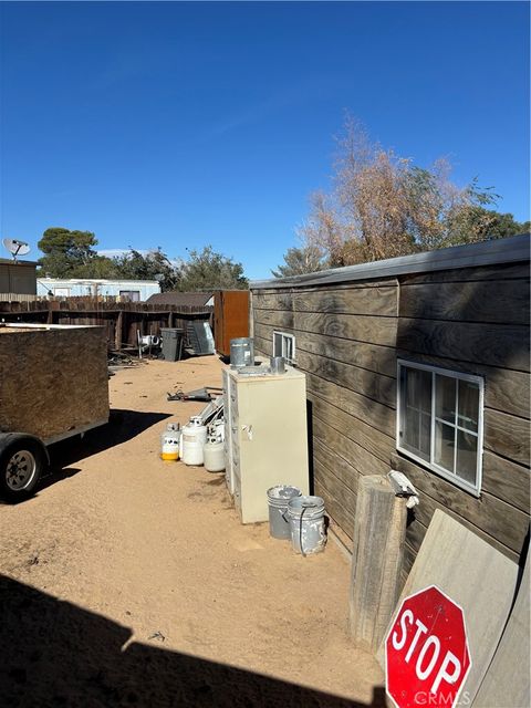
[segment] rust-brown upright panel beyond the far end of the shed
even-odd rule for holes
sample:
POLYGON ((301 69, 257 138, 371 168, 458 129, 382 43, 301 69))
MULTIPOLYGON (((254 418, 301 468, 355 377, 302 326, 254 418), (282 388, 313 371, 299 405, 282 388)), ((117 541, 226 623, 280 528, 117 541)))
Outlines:
POLYGON ((249 291, 218 290, 214 296, 216 351, 230 356, 230 340, 249 336, 249 291))

